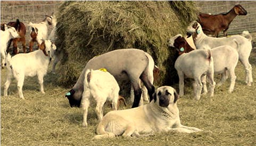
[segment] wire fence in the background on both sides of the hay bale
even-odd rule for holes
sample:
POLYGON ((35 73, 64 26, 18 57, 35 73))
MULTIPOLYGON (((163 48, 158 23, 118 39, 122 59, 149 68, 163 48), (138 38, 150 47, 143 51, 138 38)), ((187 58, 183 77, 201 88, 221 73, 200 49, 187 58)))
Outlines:
MULTIPOLYGON (((57 12, 62 1, 1 1, 1 23, 19 19, 26 27, 29 22, 39 23, 45 15, 57 12)), ((228 12, 235 4, 241 4, 248 12, 246 16, 236 16, 229 25, 228 35, 240 34, 243 30, 256 32, 256 1, 196 1, 202 13, 219 14, 228 12)), ((50 32, 51 28, 49 28, 50 32)), ((221 36, 222 33, 219 34, 221 36)), ((26 35, 29 40, 29 35, 26 35)))

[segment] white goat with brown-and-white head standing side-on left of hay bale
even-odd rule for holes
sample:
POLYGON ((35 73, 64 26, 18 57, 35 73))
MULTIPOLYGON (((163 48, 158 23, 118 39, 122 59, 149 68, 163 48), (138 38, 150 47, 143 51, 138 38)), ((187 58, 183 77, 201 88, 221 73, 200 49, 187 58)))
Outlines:
POLYGON ((44 92, 44 76, 47 73, 47 68, 53 51, 56 49, 56 46, 50 41, 45 40, 39 46, 39 49, 27 54, 17 54, 11 57, 10 54, 7 55, 7 79, 4 84, 4 96, 7 96, 7 90, 11 84, 12 76, 18 81, 18 93, 19 97, 24 99, 22 93, 22 86, 25 76, 35 76, 37 75, 38 82, 40 84, 40 91, 44 92), (29 62, 24 62, 24 61, 29 62))

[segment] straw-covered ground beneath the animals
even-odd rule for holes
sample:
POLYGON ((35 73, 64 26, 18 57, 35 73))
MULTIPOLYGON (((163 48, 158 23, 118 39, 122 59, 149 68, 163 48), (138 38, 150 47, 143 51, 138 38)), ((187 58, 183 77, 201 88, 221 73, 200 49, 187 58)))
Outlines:
MULTIPOLYGON (((70 2, 71 3, 71 2, 70 2)), ((164 2, 163 2, 164 3, 164 2)), ((68 4, 68 3, 67 3, 68 4)), ((89 5, 89 3, 87 3, 89 5)), ((100 5, 100 4, 99 4, 100 5)), ((161 5, 161 3, 159 4, 161 5)), ((158 6, 159 6, 158 5, 158 6)), ((71 5, 72 6, 72 5, 71 5)), ((122 5, 120 4, 120 7, 122 5)), ((75 8, 75 7, 74 7, 75 8)), ((83 10, 83 7, 79 7, 83 10)), ((94 8, 94 7, 91 7, 94 8)), ((111 8, 115 8, 114 6, 111 8)), ((129 7, 132 8, 132 7, 129 7)), ((153 7, 154 9, 156 7, 153 7)), ((153 10, 152 8, 152 10, 153 10)), ((67 9, 68 10, 68 9, 67 9)), ((87 10, 86 10, 87 11, 87 10)), ((69 11, 68 11, 69 12, 69 11)), ((63 13, 68 13, 63 10, 63 13)), ((74 11, 75 13, 76 11, 74 11)), ((112 12, 112 11, 111 11, 112 12)), ((136 11, 135 11, 136 12, 136 11)), ((135 13, 134 12, 134 13, 135 13)), ((71 15, 72 13, 69 12, 71 15)), ((146 14, 145 14, 146 15, 146 14)), ((179 14, 181 15, 181 14, 179 14)), ((120 16, 121 18, 121 16, 120 16)), ((125 21, 125 20, 124 20, 125 21)), ((128 20, 127 20, 128 21, 128 20)), ((153 20, 152 20, 153 21, 153 20)), ((178 21, 178 20, 177 20, 178 21)), ((76 23, 75 21, 73 23, 76 23)), ((128 22, 127 22, 128 23, 128 22)), ((180 22, 184 23, 184 22, 180 22)), ((146 25, 146 24, 145 24, 146 25)), ((185 24, 181 24, 184 25, 185 24)), ((68 24, 67 24, 68 26, 68 24)), ((95 26, 96 27, 96 26, 95 26)), ((170 27, 170 26, 169 26, 170 27)), ((172 26, 171 26, 172 27, 172 26)), ((78 27, 79 28, 79 27, 78 27)), ((86 29, 86 28, 79 28, 86 29)), ((130 29, 130 28, 129 28, 130 29)), ((167 29, 167 26, 163 29, 167 29)), ((138 30, 138 29, 135 29, 138 30)), ((141 31, 143 32, 143 31, 141 31)), ((80 33, 80 31, 68 31, 67 33, 80 33)), ((96 33, 96 32, 95 32, 96 33)), ((166 35, 163 38, 176 35, 180 32, 172 32, 175 34, 166 35)), ((166 34, 166 33, 164 33, 166 34)), ((95 135, 97 126, 96 113, 94 111, 95 104, 89 107, 88 111, 88 127, 83 128, 82 110, 80 108, 69 107, 68 99, 64 98, 70 88, 65 88, 57 82, 60 80, 60 72, 64 74, 66 71, 64 66, 58 65, 57 74, 48 73, 45 76, 45 95, 39 92, 39 85, 36 78, 27 78, 24 81, 23 94, 24 100, 18 97, 16 89, 16 81, 13 81, 9 88, 8 97, 3 97, 3 85, 6 78, 6 68, 1 70, 1 144, 2 145, 256 145, 256 35, 253 35, 253 46, 250 63, 253 68, 254 83, 251 87, 247 87, 244 83, 245 71, 241 63, 236 67, 236 85, 233 93, 228 93, 229 80, 220 88, 216 88, 214 97, 202 96, 199 101, 194 100, 192 82, 185 81, 185 96, 178 99, 177 104, 180 111, 181 124, 186 126, 194 126, 204 130, 203 132, 184 134, 176 132, 155 133, 145 138, 123 138, 92 140, 95 135)), ((69 35, 63 35, 70 37, 69 35)), ((111 36, 111 35, 110 35, 111 36)), ((102 36, 100 36, 102 38, 102 36)), ((107 40, 111 40, 108 35, 107 40)), ((153 37, 153 36, 152 36, 153 37)), ((122 37, 120 37, 122 38, 122 37)), ((125 39, 125 38, 122 38, 125 39)), ((159 40, 159 39, 158 39, 159 40)), ((76 40, 78 41, 78 40, 76 40)), ((70 43, 77 45, 75 38, 70 38, 70 43)), ((79 41, 83 41, 80 39, 79 41)), ((92 40, 97 41, 97 40, 92 40)), ((106 41, 109 42, 109 41, 106 41)), ((111 41, 110 41, 111 42, 111 41)), ((141 41, 138 41, 138 43, 141 41)), ((151 42, 150 44, 152 44, 151 42)), ((162 44, 154 42, 153 44, 162 44)), ((166 42, 164 42, 166 43, 166 42)), ((65 47, 64 44, 63 47, 65 47)), ((109 46, 108 43, 104 46, 109 46)), ((126 44, 127 45, 127 44, 126 44)), ((89 45, 88 45, 89 46, 89 45)), ((111 45, 110 45, 111 46, 111 45)), ((164 46, 164 45, 163 45, 164 46)), ((93 47, 92 47, 93 48, 93 47)), ((110 47, 111 48, 111 47, 110 47)), ((153 47, 154 48, 154 47, 153 47)), ((155 47, 157 48, 157 47, 155 47)), ((65 49, 65 48, 64 48, 65 49)), ((74 48, 76 49, 76 48, 74 48)), ((168 48, 164 48, 168 49, 168 48)), ((82 50, 84 51, 84 50, 82 50)), ((69 55, 71 50, 67 49, 69 55)), ((90 51, 92 56, 95 55, 90 51)), ((76 57, 86 62, 86 58, 77 55, 76 57)), ((156 56, 153 56, 158 58, 156 56)), ((167 57, 168 58, 168 57, 167 57)), ((172 59, 169 59, 172 61, 172 59)), ((158 59, 159 61, 159 59, 158 59)), ((168 61, 168 60, 167 60, 168 61)), ((165 64, 167 63, 164 62, 165 64)), ((172 61, 174 62, 174 61, 172 61)), ((67 58, 67 63, 71 63, 77 68, 70 70, 82 70, 80 63, 72 62, 71 58, 67 58)), ((164 67, 157 62, 160 67, 164 67)), ((51 64, 52 65, 52 64, 51 64)), ((51 66, 50 65, 50 66, 51 66)), ((74 67, 71 66, 71 67, 74 67)), ((49 67, 51 68, 51 67, 49 67)), ((49 69, 50 72, 50 69, 49 69)), ((75 74, 75 73, 74 73, 75 74)), ((167 70, 167 74, 170 74, 167 70)), ((77 73, 79 75, 79 73, 77 73)), ((72 80, 77 75, 71 75, 68 83, 73 85, 72 80)), ((216 81, 220 80, 220 76, 215 76, 216 81)), ((173 79, 177 80, 177 79, 173 79)), ((162 83, 161 85, 166 85, 162 83)), ((178 84, 173 84, 178 90, 178 84)), ((121 109, 131 107, 129 98, 126 97, 128 106, 121 109)), ((110 107, 106 107, 104 114, 110 111, 110 107)))

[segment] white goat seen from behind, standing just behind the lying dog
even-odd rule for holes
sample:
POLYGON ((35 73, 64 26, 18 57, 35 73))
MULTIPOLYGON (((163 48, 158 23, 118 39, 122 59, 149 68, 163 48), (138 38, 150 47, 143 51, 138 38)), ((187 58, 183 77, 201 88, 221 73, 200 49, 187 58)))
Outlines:
POLYGON ((103 106, 106 101, 112 102, 112 108, 117 110, 117 103, 119 99, 119 85, 105 68, 103 70, 86 70, 84 80, 84 92, 82 93, 81 106, 84 110, 84 121, 82 126, 87 127, 87 113, 90 104, 90 99, 96 101, 96 114, 98 120, 101 121, 103 117, 103 106))

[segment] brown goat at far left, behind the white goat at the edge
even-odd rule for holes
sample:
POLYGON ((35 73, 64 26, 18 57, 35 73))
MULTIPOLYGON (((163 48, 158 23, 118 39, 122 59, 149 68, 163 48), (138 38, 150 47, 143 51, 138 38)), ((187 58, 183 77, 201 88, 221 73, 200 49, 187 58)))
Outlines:
MULTIPOLYGON (((18 54, 18 49, 17 49, 17 43, 21 41, 22 43, 22 48, 23 48, 23 53, 26 53, 26 27, 25 25, 19 21, 19 19, 16 20, 16 22, 9 22, 7 25, 14 27, 15 30, 19 33, 20 38, 15 38, 9 41, 7 45, 7 49, 10 47, 11 42, 13 43, 13 53, 12 54, 18 54)), ((4 27, 2 27, 1 24, 1 30, 4 30, 4 27)))

